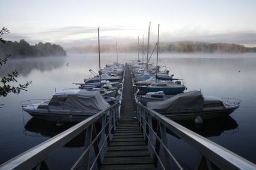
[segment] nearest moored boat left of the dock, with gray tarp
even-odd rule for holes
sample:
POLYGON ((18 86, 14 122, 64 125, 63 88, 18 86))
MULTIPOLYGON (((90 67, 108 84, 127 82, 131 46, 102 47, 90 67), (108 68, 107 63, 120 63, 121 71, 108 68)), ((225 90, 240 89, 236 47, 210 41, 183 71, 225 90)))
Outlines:
POLYGON ((81 122, 109 107, 99 91, 72 89, 55 92, 50 100, 32 104, 33 101, 22 101, 22 109, 33 118, 53 122, 81 122))

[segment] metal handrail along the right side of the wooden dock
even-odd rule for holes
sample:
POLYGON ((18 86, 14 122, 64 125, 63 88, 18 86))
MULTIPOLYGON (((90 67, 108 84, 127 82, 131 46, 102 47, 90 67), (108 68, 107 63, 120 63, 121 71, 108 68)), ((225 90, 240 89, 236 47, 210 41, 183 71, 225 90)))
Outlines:
MULTIPOLYGON (((144 117, 143 114, 150 115, 150 121, 152 121, 152 118, 156 119, 159 123, 161 123, 161 125, 164 126, 164 128, 167 128, 170 131, 172 131, 175 135, 184 140, 186 143, 190 144, 190 146, 194 147, 200 154, 202 154, 202 156, 206 158, 208 166, 210 166, 208 167, 209 169, 211 169, 211 163, 218 166, 218 168, 221 169, 256 169, 256 165, 254 163, 249 162, 243 157, 240 157, 237 154, 230 152, 230 150, 227 150, 224 147, 221 147, 220 145, 202 137, 201 135, 196 134, 193 131, 190 131, 184 126, 181 126, 173 120, 170 120, 166 116, 163 116, 160 113, 157 113, 156 111, 145 107, 140 102, 136 101, 136 106, 138 120, 144 117)), ((150 126, 150 124, 152 124, 146 122, 146 119, 143 119, 142 123, 139 121, 139 123, 141 124, 140 126, 142 127, 146 124, 150 126)), ((150 134, 150 132, 147 132, 144 128, 142 128, 142 131, 144 132, 144 134, 150 134)), ((148 137, 148 135, 145 135, 145 137, 147 137, 148 140, 153 140, 150 137, 148 137)), ((164 146, 163 141, 160 141, 160 144, 164 146)), ((168 148, 168 146, 166 147, 168 148)), ((166 149, 166 147, 163 148, 166 149)), ((165 153, 169 152, 170 150, 168 150, 168 152, 165 153)), ((167 169, 169 168, 167 167, 167 169)))

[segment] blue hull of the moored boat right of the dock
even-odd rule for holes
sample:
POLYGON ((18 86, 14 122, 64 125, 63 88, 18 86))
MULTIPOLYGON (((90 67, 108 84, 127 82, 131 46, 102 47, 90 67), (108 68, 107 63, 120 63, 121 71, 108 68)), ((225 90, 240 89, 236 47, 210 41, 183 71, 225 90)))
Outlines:
POLYGON ((185 86, 182 87, 173 87, 173 88, 157 88, 157 87, 148 87, 148 86, 137 86, 140 91, 144 92, 157 92, 163 91, 164 93, 178 93, 183 92, 185 90, 185 86))

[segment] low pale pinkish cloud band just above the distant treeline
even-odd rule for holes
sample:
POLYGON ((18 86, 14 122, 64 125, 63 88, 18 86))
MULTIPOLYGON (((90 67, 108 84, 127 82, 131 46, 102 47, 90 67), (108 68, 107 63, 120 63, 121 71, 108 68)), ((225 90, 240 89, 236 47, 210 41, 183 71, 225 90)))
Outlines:
MULTIPOLYGON (((102 44, 126 44, 137 42, 137 36, 132 33, 141 32, 140 29, 133 29, 126 26, 100 27, 100 42, 102 44), (130 34, 129 34, 130 33, 130 34)), ((44 32, 33 33, 9 33, 5 39, 19 41, 25 39, 29 44, 38 42, 51 42, 60 44, 63 47, 77 47, 94 44, 97 42, 97 27, 70 26, 58 27, 56 29, 45 30, 44 32)), ((144 42, 147 36, 144 36, 144 42)), ((157 34, 152 32, 150 42, 157 41, 157 34)), ((202 41, 202 42, 224 42, 241 45, 256 45, 256 32, 209 32, 208 30, 180 29, 173 32, 165 31, 160 33, 160 41, 202 41)))

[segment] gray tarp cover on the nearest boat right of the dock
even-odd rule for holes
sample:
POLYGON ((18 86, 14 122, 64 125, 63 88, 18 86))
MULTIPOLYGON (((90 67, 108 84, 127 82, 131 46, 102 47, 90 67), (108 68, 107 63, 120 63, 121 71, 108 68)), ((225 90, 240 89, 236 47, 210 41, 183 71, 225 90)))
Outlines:
POLYGON ((200 110, 203 107, 203 95, 200 91, 190 91, 177 94, 164 101, 151 101, 147 103, 150 109, 170 110, 200 110))

